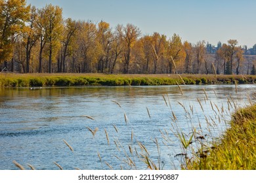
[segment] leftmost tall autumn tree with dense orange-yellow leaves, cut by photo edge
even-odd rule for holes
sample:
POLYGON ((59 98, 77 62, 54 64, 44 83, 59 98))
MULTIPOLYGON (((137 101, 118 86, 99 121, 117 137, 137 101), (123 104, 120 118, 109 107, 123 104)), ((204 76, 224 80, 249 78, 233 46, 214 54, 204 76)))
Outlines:
POLYGON ((0 0, 0 64, 12 58, 14 36, 22 31, 29 12, 25 0, 0 0))

